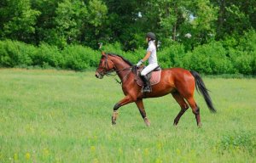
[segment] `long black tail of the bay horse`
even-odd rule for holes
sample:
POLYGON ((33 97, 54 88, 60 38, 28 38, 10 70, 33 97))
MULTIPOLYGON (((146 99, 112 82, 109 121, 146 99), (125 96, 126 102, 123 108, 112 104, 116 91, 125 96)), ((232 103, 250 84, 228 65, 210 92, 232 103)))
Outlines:
POLYGON ((210 95, 208 94, 207 87, 206 87, 205 83, 202 81, 201 76, 194 70, 190 70, 190 73, 192 74, 192 76, 195 77, 195 88, 196 88, 197 92, 201 93, 203 95, 209 110, 211 110, 212 113, 216 113, 217 110, 215 110, 215 108, 213 107, 212 99, 211 99, 210 95))

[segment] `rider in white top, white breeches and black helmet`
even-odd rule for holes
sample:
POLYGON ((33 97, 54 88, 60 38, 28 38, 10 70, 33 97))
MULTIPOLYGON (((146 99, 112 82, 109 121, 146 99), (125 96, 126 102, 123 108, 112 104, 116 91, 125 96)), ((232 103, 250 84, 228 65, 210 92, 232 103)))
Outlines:
POLYGON ((158 64, 157 64, 157 56, 156 56, 156 42, 155 42, 155 35, 153 32, 148 32, 146 35, 146 41, 148 42, 148 48, 147 48, 147 53, 143 59, 141 59, 137 63, 137 67, 142 65, 143 62, 148 60, 148 66, 145 67, 142 72, 141 76, 144 82, 144 87, 143 87, 143 93, 150 93, 150 82, 147 77, 147 74, 154 70, 158 64))

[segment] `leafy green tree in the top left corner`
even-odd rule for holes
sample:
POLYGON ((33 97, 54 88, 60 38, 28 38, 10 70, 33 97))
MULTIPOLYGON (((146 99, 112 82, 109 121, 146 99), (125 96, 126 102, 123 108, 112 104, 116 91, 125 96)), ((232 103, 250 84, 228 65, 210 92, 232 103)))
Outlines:
POLYGON ((30 0, 3 0, 0 7, 0 34, 3 38, 31 42, 40 12, 31 8, 30 0))

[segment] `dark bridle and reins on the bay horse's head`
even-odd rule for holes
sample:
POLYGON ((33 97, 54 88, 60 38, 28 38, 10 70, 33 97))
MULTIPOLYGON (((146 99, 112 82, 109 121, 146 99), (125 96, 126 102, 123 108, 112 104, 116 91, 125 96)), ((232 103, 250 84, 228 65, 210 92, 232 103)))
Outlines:
POLYGON ((104 61, 105 61, 104 66, 98 67, 98 69, 99 69, 99 68, 102 68, 103 70, 102 70, 102 71, 96 70, 96 71, 97 71, 101 76, 116 76, 117 73, 120 72, 120 71, 129 70, 129 72, 125 75, 125 77, 124 77, 123 79, 121 79, 121 82, 119 82, 119 81, 117 81, 117 79, 115 79, 117 82, 119 82, 119 83, 121 84, 122 82, 125 81, 126 77, 130 74, 133 65, 132 65, 132 66, 129 66, 129 67, 126 67, 126 68, 124 68, 124 69, 118 70, 117 67, 113 64, 113 67, 114 67, 113 70, 109 70, 108 60, 109 60, 110 62, 112 62, 112 64, 113 64, 113 61, 110 60, 110 59, 108 59, 108 53, 106 53, 106 54, 105 54, 105 60, 104 60, 104 61), (115 74, 113 74, 113 72, 115 72, 115 74))

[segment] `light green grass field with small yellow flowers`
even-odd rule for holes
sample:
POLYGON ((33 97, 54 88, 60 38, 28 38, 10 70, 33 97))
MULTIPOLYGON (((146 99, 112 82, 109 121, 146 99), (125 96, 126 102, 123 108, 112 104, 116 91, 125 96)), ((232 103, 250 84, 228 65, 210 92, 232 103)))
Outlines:
POLYGON ((172 96, 144 100, 151 126, 111 77, 57 70, 0 70, 0 162, 256 162, 256 79, 204 77, 218 113, 189 109, 177 127, 172 96))

